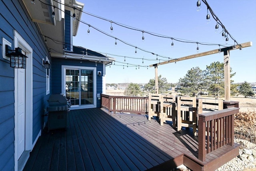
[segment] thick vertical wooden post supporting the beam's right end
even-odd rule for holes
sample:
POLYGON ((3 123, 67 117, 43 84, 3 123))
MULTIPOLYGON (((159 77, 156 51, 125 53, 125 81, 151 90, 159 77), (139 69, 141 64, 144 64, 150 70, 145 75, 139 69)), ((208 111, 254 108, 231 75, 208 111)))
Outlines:
POLYGON ((230 61, 229 50, 224 51, 224 94, 225 101, 230 101, 230 61))

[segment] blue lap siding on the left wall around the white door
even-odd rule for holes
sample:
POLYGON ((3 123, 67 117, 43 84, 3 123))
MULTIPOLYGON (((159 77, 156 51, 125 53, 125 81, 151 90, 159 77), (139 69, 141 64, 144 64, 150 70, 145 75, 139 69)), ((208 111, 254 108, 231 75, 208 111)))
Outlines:
POLYGON ((33 49, 33 142, 44 123, 46 69, 42 58, 48 56, 44 39, 37 24, 32 22, 24 4, 19 0, 0 1, 0 170, 14 170, 14 69, 2 56, 2 39, 14 49, 14 30, 33 49))

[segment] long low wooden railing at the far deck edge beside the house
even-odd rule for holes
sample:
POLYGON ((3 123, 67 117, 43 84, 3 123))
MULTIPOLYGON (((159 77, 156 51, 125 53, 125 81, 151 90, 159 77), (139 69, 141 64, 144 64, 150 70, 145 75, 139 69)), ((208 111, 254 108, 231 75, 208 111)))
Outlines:
POLYGON ((148 113, 148 97, 101 95, 102 107, 108 112, 148 113))

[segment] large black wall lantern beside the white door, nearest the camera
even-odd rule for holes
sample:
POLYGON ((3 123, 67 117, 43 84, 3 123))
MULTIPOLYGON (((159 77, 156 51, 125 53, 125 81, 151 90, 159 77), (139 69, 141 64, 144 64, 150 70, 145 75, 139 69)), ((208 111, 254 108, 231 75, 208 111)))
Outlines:
POLYGON ((11 47, 5 45, 5 55, 10 58, 10 66, 12 68, 23 68, 26 69, 26 55, 22 54, 21 48, 15 48, 11 50, 11 47))

